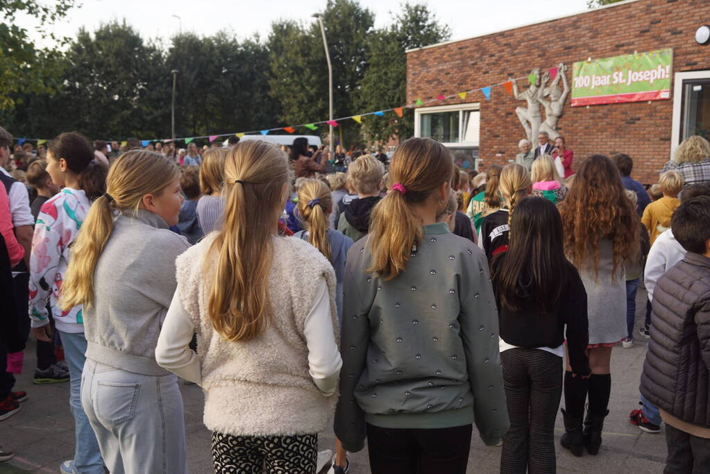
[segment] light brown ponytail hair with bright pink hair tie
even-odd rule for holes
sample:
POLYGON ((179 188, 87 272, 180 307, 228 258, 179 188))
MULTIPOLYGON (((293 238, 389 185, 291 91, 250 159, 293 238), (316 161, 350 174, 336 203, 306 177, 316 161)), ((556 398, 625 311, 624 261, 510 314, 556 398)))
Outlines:
POLYGON ((453 167, 449 150, 431 138, 410 138, 398 146, 390 162, 387 195, 371 214, 367 245, 372 262, 367 272, 391 280, 405 270, 413 244, 422 239, 422 222, 408 204, 424 202, 449 182, 453 167), (397 183, 405 192, 392 189, 397 183))

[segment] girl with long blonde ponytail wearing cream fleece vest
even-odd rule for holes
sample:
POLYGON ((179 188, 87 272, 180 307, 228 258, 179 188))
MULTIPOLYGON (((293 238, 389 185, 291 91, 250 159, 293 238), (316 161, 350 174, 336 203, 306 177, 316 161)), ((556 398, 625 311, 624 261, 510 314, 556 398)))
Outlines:
POLYGON ((156 349, 160 365, 202 386, 218 473, 264 463, 269 473, 315 472, 317 432, 334 407, 335 275, 317 248, 278 236, 288 175, 275 145, 229 150, 224 224, 178 258, 156 349))

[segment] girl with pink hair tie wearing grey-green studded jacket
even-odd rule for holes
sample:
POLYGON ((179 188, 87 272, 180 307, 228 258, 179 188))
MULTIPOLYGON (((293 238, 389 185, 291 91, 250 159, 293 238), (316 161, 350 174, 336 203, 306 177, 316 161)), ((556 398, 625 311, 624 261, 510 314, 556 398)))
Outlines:
POLYGON ((453 169, 437 141, 402 143, 348 253, 334 428, 347 451, 367 438, 374 474, 464 474, 472 420, 488 445, 508 428, 488 263, 437 222, 453 169))

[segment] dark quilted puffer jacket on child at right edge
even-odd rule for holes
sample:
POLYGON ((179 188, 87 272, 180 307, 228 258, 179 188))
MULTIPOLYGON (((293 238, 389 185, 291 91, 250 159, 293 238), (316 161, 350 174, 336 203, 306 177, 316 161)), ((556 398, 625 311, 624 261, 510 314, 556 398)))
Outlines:
POLYGON ((710 427, 710 258, 689 252, 658 280, 641 393, 710 427))

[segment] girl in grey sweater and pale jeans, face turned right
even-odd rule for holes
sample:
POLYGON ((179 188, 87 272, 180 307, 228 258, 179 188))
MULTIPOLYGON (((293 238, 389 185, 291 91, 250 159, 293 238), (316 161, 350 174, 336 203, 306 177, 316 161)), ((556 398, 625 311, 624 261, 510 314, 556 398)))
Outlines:
POLYGON ((112 473, 187 473, 178 377, 155 360, 175 259, 190 246, 169 230, 182 200, 173 160, 129 151, 72 248, 60 302, 84 307, 82 407, 112 473))

